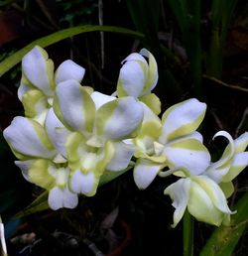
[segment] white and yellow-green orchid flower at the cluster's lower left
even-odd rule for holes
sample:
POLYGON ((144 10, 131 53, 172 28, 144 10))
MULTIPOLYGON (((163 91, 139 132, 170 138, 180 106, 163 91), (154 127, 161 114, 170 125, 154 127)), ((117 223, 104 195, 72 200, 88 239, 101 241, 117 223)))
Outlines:
MULTIPOLYGON (((55 125, 60 121, 52 111, 51 109, 48 114, 47 123, 55 125)), ((58 124, 58 127, 64 130, 61 124, 58 124)), ((65 156, 60 153, 64 152, 61 142, 65 141, 66 133, 59 133, 60 140, 55 147, 44 126, 31 118, 18 116, 4 130, 3 135, 20 160, 15 164, 21 169, 24 178, 50 192, 51 208, 73 208, 77 205, 77 194, 67 188, 70 170, 65 156)), ((52 131, 50 135, 55 139, 52 131)))

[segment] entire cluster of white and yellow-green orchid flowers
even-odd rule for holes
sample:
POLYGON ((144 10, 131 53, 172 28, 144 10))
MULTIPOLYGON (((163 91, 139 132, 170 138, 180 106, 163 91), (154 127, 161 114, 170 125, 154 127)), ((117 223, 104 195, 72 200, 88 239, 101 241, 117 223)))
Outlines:
POLYGON ((196 131, 206 104, 190 98, 161 115, 161 101, 152 93, 158 67, 145 49, 123 61, 112 95, 81 85, 84 72, 69 60, 55 71, 47 52, 35 47, 22 60, 18 97, 25 117, 15 117, 4 130, 15 164, 27 181, 49 191, 50 207, 74 208, 78 195, 96 193, 102 176, 133 163, 141 190, 157 176, 178 178, 165 189, 176 208, 173 226, 186 208, 199 221, 228 223, 235 213, 227 204, 232 180, 248 165, 248 132, 237 139, 217 132, 214 138, 225 137, 228 145, 212 162, 196 131))

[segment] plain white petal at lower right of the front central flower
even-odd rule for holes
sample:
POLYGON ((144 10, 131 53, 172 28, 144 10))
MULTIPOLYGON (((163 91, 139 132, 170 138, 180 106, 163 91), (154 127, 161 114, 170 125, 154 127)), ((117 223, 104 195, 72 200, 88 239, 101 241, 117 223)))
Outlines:
POLYGON ((135 147, 124 142, 115 142, 113 143, 113 146, 114 156, 106 169, 108 171, 121 171, 126 169, 133 156, 135 147))

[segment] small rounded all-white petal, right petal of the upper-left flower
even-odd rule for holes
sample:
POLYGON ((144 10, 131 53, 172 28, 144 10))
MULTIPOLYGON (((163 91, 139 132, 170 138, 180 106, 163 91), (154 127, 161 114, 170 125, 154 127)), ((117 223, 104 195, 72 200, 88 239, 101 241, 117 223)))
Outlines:
POLYGON ((85 69, 79 64, 75 64, 71 60, 64 61, 56 70, 56 84, 69 79, 81 82, 84 73, 85 69))

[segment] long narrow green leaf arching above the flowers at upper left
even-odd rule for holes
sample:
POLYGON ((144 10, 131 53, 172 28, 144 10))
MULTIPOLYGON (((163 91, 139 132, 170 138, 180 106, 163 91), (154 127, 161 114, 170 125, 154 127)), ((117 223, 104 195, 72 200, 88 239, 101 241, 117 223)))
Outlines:
POLYGON ((53 44, 56 44, 66 38, 70 38, 82 33, 87 32, 95 32, 95 31, 103 31, 103 32, 112 32, 112 33, 119 33, 128 35, 134 38, 142 39, 144 36, 141 33, 128 30, 125 28, 120 27, 112 27, 112 26, 91 26, 91 25, 85 25, 85 26, 78 26, 78 27, 72 27, 69 29, 65 29, 56 33, 53 33, 47 37, 40 38, 38 40, 35 40, 22 50, 18 51, 14 55, 10 56, 6 60, 4 60, 2 63, 0 63, 0 76, 2 76, 5 72, 7 72, 10 68, 12 68, 15 64, 18 64, 21 62, 22 58, 31 51, 35 46, 40 47, 48 47, 53 44))

